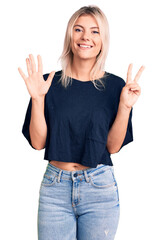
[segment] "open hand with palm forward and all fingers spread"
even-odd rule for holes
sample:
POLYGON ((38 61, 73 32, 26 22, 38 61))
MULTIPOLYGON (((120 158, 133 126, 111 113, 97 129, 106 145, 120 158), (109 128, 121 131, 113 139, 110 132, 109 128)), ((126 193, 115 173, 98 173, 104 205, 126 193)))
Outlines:
POLYGON ((21 68, 18 68, 18 71, 22 78, 24 79, 28 92, 32 99, 40 99, 46 95, 55 74, 55 71, 52 71, 49 74, 48 79, 45 81, 43 78, 43 65, 41 56, 38 55, 37 59, 38 59, 38 72, 36 71, 36 64, 33 55, 29 54, 29 58, 26 58, 27 70, 29 74, 28 77, 23 73, 21 68))

